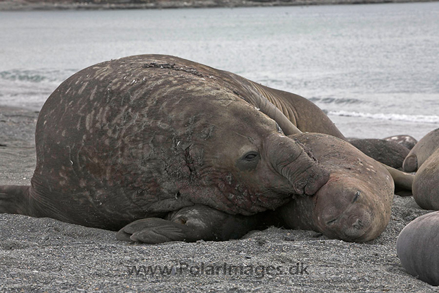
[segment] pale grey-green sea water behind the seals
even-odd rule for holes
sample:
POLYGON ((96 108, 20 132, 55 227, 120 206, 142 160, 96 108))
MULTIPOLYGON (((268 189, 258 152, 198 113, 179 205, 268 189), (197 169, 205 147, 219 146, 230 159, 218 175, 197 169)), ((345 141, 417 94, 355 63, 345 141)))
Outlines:
POLYGON ((39 110, 70 75, 135 54, 307 97, 347 137, 439 127, 439 3, 0 12, 0 105, 39 110))

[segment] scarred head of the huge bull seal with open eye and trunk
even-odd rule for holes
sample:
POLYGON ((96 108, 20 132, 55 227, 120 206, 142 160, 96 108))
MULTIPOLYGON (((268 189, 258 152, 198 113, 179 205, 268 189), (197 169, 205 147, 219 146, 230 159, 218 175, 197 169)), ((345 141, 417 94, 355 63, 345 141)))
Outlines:
POLYGON ((327 182, 329 172, 276 121, 236 93, 204 81, 191 84, 190 95, 187 89, 175 94, 178 110, 168 110, 179 120, 176 149, 191 171, 178 187, 191 202, 250 215, 276 209, 290 194, 311 196, 327 182))

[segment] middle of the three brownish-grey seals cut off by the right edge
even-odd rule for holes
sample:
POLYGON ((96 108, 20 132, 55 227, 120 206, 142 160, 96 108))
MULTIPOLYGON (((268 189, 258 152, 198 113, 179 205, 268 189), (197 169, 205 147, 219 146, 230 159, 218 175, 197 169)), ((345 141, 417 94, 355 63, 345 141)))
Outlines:
POLYGON ((439 210, 439 148, 416 172, 412 192, 419 207, 439 210))

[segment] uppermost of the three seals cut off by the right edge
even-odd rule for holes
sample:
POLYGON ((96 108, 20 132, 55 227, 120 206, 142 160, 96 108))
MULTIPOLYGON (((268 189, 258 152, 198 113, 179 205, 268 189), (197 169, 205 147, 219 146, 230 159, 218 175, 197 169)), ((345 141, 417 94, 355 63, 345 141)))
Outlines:
POLYGON ((404 160, 403 170, 405 172, 416 172, 437 148, 439 148, 439 128, 428 132, 425 137, 416 143, 404 160))

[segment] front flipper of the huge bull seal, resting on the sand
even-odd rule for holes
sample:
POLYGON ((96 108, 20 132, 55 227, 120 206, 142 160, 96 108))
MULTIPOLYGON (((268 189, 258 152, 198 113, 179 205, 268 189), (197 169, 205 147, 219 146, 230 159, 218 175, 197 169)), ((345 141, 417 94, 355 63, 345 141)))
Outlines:
POLYGON ((257 226, 256 215, 229 215, 210 207, 195 205, 171 212, 166 217, 137 220, 121 228, 119 240, 162 243, 237 239, 257 226))

